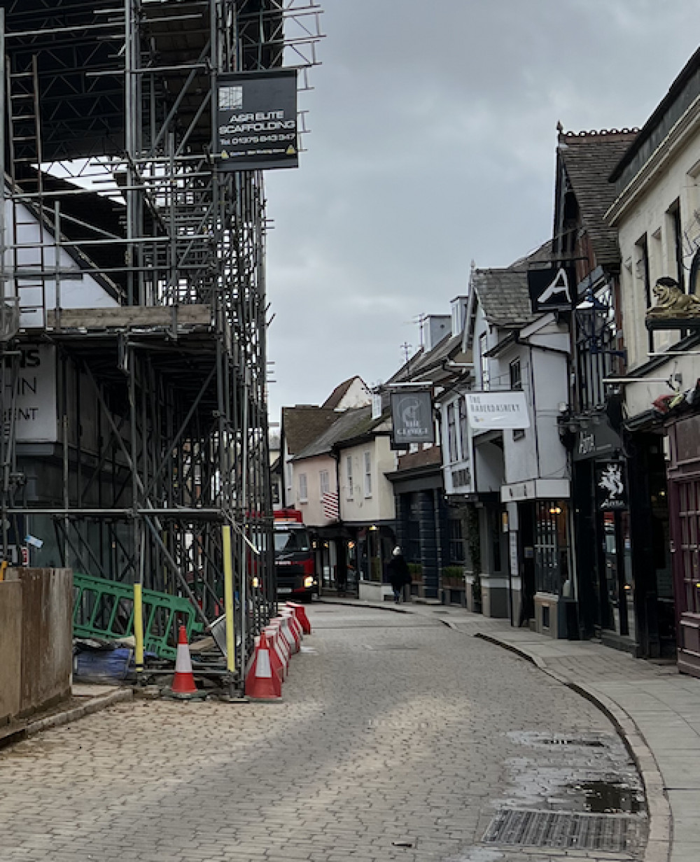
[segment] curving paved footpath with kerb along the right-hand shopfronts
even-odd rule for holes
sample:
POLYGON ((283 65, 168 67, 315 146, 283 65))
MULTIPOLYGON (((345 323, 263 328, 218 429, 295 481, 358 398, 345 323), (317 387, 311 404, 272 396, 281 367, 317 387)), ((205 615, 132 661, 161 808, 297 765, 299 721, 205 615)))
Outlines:
POLYGON ((590 640, 553 640, 509 622, 437 603, 325 599, 438 618, 504 647, 608 715, 641 773, 650 818, 645 862, 700 859, 700 679, 590 640))

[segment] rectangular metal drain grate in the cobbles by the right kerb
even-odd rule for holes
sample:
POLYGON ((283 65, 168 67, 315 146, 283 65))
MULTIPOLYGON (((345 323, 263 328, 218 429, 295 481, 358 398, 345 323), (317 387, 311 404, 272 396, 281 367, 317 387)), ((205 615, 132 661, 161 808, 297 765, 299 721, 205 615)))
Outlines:
POLYGON ((620 853, 641 845, 642 825, 624 815, 503 809, 484 834, 486 844, 601 850, 620 853))

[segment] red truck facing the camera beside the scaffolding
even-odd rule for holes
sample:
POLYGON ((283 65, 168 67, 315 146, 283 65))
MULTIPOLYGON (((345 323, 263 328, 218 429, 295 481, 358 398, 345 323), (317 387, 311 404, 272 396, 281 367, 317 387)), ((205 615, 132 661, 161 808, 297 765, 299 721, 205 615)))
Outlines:
POLYGON ((275 511, 274 539, 278 598, 310 602, 318 594, 316 553, 298 509, 275 511))

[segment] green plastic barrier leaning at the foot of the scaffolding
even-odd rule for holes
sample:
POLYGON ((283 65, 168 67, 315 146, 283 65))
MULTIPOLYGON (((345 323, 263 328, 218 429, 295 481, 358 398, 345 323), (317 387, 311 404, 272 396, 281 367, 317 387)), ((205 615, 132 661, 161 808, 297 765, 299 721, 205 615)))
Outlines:
MULTIPOLYGON (((175 659, 180 624, 187 630, 187 640, 203 630, 189 599, 143 590, 143 643, 147 651, 161 659, 175 659)), ((131 634, 134 634, 134 587, 74 573, 73 635, 114 640, 131 634)))

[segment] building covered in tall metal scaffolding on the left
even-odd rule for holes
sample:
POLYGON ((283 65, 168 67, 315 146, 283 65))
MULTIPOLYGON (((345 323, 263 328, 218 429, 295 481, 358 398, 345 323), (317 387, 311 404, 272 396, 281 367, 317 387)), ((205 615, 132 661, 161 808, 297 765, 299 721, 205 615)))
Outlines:
POLYGON ((229 525, 240 674, 274 601, 266 216, 214 151, 216 88, 313 65, 316 0, 0 7, 0 551, 210 622, 229 525))

